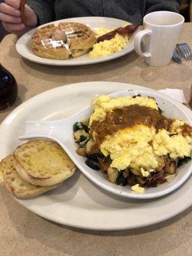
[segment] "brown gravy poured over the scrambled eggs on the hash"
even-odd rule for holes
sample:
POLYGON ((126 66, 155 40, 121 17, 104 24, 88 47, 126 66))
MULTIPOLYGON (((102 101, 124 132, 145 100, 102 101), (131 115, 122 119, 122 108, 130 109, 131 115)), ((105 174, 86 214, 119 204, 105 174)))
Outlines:
MULTIPOLYGON (((154 126, 157 131, 163 128, 170 131, 173 121, 173 119, 160 115, 156 109, 131 105, 126 108, 108 111, 105 120, 101 122, 93 121, 90 127, 90 136, 92 137, 93 132, 96 132, 95 150, 98 152, 100 144, 107 135, 140 124, 148 127, 154 126)), ((187 124, 183 125, 182 134, 183 136, 191 136, 192 127, 187 124)))

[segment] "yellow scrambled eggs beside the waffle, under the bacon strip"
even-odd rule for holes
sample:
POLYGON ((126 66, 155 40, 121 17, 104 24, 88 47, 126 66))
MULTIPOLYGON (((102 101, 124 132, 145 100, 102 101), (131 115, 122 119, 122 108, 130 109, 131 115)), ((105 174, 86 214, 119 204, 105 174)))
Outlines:
MULTIPOLYGON (((125 24, 126 26, 127 24, 125 24)), ((99 28, 95 32, 96 37, 102 36, 110 31, 113 31, 114 29, 106 29, 106 28, 99 28)), ((111 53, 118 52, 125 48, 125 46, 129 42, 129 36, 128 35, 119 35, 116 33, 115 37, 111 40, 104 40, 103 42, 99 42, 97 44, 93 45, 92 51, 90 51, 89 56, 90 58, 97 58, 97 57, 103 57, 107 56, 111 53)))

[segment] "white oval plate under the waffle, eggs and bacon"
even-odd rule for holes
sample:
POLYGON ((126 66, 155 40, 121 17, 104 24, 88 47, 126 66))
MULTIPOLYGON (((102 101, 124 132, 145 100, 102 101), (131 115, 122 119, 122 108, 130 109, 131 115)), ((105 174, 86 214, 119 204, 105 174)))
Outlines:
MULTIPOLYGON (((56 20, 54 22, 50 22, 48 24, 58 24, 59 22, 80 22, 83 24, 86 24, 89 26, 93 31, 97 28, 117 28, 119 26, 122 26, 122 24, 125 23, 125 20, 118 20, 118 19, 113 19, 113 18, 105 18, 105 17, 78 17, 78 18, 71 18, 71 19, 63 19, 63 20, 56 20)), ((46 24, 42 25, 45 26, 46 24)), ((38 27, 41 28, 42 26, 38 27)), ((23 35, 16 44, 16 49, 19 54, 30 61, 34 61, 36 63, 41 63, 45 65, 55 65, 55 66, 76 66, 76 65, 87 65, 87 64, 93 64, 93 63, 100 63, 103 61, 108 61, 108 60, 113 60, 116 58, 119 58, 121 56, 124 56, 125 54, 131 52, 134 50, 134 45, 133 45, 133 36, 136 31, 130 36, 129 38, 129 44, 122 49, 121 51, 115 52, 113 54, 110 54, 105 57, 101 58, 89 58, 88 54, 81 56, 79 58, 70 58, 68 60, 49 60, 45 58, 40 58, 36 56, 33 51, 31 50, 31 36, 33 33, 36 31, 36 29, 32 29, 25 35, 23 35)))

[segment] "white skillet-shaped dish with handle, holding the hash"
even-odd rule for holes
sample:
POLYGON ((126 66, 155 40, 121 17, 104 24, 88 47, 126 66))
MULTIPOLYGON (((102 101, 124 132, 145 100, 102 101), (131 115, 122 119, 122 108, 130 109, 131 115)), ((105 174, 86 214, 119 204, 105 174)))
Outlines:
MULTIPOLYGON (((141 90, 126 90, 121 92, 115 92, 109 94, 111 97, 125 97, 127 95, 134 96, 140 94, 143 97, 154 97, 157 101, 159 108, 163 109, 166 112, 166 116, 170 118, 176 118, 179 120, 186 120, 191 122, 189 116, 183 110, 183 106, 180 108, 179 104, 175 104, 173 100, 168 99, 166 95, 160 95, 158 92, 150 92, 150 91, 141 91, 141 90)), ((41 108, 43 102, 45 102, 47 98, 42 98, 39 101, 39 108, 41 108)), ((35 108, 38 108, 37 102, 34 103, 35 108)), ((31 106, 31 108, 33 108, 31 106)), ((100 188, 105 189, 108 192, 114 193, 116 195, 125 196, 128 198, 137 198, 137 199, 149 199, 149 198, 157 198, 160 196, 167 195, 168 193, 174 191, 179 188, 191 175, 192 170, 192 161, 184 164, 184 166, 178 169, 177 177, 170 183, 165 182, 161 186, 157 188, 148 188, 145 189, 145 193, 139 194, 132 191, 130 186, 116 186, 109 182, 107 179, 104 179, 104 175, 102 172, 95 172, 92 168, 85 164, 85 157, 79 156, 76 152, 76 144, 74 141, 74 134, 72 130, 72 126, 81 120, 87 120, 93 113, 93 107, 87 106, 84 109, 79 109, 75 115, 70 116, 70 118, 65 119, 63 123, 62 120, 56 122, 43 122, 42 126, 40 125, 40 120, 34 120, 30 117, 28 121, 37 121, 38 127, 32 123, 25 125, 26 134, 24 134, 24 138, 38 138, 37 134, 40 134, 40 138, 48 138, 51 140, 57 141, 61 147, 67 152, 68 156, 74 161, 76 166, 83 172, 83 174, 88 177, 88 179, 92 180, 93 183, 100 186, 100 188), (47 123, 47 124, 46 124, 47 123), (47 127, 45 129, 45 127, 47 127), (65 133, 64 133, 65 132, 65 133), (27 137, 26 137, 27 135, 27 137)))

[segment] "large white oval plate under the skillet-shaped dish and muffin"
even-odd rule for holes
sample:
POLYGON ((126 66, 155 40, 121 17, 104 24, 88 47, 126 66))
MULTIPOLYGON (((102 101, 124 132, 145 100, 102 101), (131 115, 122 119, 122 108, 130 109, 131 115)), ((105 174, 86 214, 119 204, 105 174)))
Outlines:
MULTIPOLYGON (((0 159, 20 145, 17 137, 23 134, 26 120, 65 118, 88 105, 92 97, 124 90, 150 89, 132 84, 89 82, 59 87, 24 102, 1 124, 0 159)), ((182 104, 179 106, 192 118, 191 111, 182 104)), ((141 201, 109 194, 76 172, 60 188, 17 202, 44 218, 72 227, 120 230, 167 220, 187 209, 191 205, 191 181, 189 178, 167 196, 141 201)))

